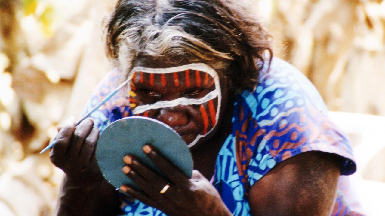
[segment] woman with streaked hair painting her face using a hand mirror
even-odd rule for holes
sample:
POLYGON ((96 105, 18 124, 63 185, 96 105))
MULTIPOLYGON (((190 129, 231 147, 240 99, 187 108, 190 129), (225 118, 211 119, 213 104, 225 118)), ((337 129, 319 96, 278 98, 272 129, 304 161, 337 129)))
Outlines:
POLYGON ((117 68, 85 111, 130 82, 93 120, 76 129, 69 120, 59 131, 50 153, 66 173, 57 214, 359 214, 341 176, 356 169, 348 141, 311 83, 272 58, 269 44, 256 19, 227 0, 119 0, 107 27, 117 68), (194 158, 191 179, 146 145, 167 179, 127 155, 122 171, 142 192, 122 185, 131 199, 114 191, 94 147, 109 123, 131 115, 182 136, 194 158))

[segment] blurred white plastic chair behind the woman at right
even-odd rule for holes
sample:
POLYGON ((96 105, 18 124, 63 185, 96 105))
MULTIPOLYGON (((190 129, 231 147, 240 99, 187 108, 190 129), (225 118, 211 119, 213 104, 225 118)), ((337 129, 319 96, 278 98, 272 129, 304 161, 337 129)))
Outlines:
POLYGON ((368 166, 375 166, 380 171, 385 169, 385 163, 370 163, 378 152, 385 149, 385 116, 345 112, 330 112, 329 115, 336 125, 353 138, 357 172, 350 176, 350 181, 362 208, 369 216, 384 216, 385 182, 364 179, 363 172, 368 166))

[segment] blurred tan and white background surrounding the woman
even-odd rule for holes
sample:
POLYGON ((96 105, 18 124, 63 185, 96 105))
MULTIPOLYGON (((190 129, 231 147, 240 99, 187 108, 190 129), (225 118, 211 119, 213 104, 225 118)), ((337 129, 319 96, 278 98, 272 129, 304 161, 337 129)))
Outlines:
MULTIPOLYGON (((385 0, 244 1, 273 35, 275 56, 337 111, 355 148, 357 196, 385 215, 373 207, 385 200, 385 0)), ((39 151, 112 68, 103 26, 115 3, 0 0, 1 216, 52 215, 62 172, 39 151)))

